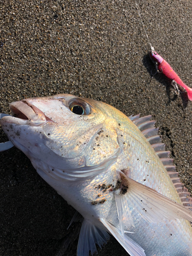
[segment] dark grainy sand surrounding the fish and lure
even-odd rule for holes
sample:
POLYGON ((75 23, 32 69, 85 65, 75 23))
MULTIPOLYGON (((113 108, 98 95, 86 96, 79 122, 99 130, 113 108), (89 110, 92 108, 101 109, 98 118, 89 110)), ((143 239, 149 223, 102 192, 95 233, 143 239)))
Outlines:
MULTIPOLYGON (((153 114, 192 192, 192 103, 154 69, 134 1, 0 1, 0 113, 23 98, 70 93, 126 115, 153 114)), ((191 83, 191 1, 140 1, 156 51, 191 83)), ((1 130, 0 142, 7 138, 1 130)), ((0 255, 55 256, 75 210, 13 147, 0 161, 0 255)), ((65 255, 76 255, 77 241, 65 255)), ((102 255, 127 255, 111 238, 102 255)))

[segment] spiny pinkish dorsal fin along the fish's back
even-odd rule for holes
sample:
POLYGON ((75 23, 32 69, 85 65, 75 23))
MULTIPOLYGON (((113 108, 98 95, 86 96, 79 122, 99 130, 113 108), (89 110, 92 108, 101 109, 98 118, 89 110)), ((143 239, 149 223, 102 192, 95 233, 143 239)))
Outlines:
POLYGON ((167 173, 169 174, 170 179, 177 189, 183 205, 192 210, 192 198, 190 197, 188 189, 181 183, 179 174, 176 172, 176 167, 173 165, 173 159, 169 158, 170 152, 165 151, 165 144, 161 143, 161 138, 158 135, 158 128, 154 126, 155 121, 151 120, 151 117, 151 115, 144 117, 140 117, 140 115, 131 115, 129 118, 137 125, 147 141, 150 142, 154 148, 156 154, 159 156, 167 170, 167 173))

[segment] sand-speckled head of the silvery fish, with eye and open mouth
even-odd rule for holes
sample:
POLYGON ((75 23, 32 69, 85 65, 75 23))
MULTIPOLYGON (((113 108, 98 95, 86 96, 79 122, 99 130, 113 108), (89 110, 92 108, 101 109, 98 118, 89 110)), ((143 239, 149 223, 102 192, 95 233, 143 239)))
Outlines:
POLYGON ((54 179, 89 179, 119 153, 111 106, 70 94, 12 102, 0 120, 12 143, 54 179))

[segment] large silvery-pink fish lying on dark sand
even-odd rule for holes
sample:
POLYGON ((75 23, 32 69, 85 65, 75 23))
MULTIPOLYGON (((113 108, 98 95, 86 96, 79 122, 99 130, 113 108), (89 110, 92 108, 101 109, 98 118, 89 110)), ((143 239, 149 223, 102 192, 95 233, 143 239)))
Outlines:
MULTIPOLYGON (((70 94, 10 104, 3 131, 82 217, 78 256, 114 236, 131 256, 192 254, 192 199, 152 116, 70 94)), ((71 224, 70 223, 70 224, 71 224)))

